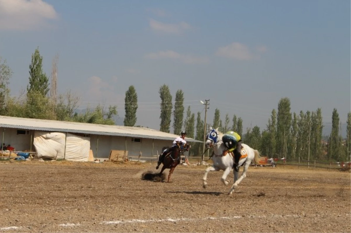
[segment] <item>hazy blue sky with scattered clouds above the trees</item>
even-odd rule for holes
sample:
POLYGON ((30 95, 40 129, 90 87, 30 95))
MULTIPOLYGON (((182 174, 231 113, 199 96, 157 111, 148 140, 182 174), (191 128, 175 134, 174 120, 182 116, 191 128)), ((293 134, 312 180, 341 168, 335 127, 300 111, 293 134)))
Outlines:
MULTIPOLYGON (((266 124, 282 97, 291 111, 351 111, 351 1, 0 0, 0 56, 13 70, 11 95, 28 83, 39 46, 44 71, 58 61, 58 92, 80 107, 117 105, 130 85, 137 125, 159 129, 159 87, 184 91, 207 122, 218 108, 247 127, 266 124)), ((172 117, 173 123, 173 117, 172 117)), ((171 123, 171 124, 172 124, 171 123)))

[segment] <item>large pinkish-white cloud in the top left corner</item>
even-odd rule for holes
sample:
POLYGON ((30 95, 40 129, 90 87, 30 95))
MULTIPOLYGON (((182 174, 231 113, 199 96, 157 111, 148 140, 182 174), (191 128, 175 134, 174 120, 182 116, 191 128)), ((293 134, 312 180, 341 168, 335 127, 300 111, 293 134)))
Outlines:
POLYGON ((0 0, 0 29, 32 30, 58 19, 54 7, 42 0, 0 0))

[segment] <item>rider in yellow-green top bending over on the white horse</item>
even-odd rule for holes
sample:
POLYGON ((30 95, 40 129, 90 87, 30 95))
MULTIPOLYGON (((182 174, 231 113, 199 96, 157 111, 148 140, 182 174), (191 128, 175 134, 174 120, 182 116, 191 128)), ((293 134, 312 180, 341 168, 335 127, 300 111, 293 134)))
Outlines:
POLYGON ((234 151, 234 165, 233 168, 235 171, 239 171, 239 160, 241 157, 241 138, 240 135, 234 131, 226 132, 222 141, 225 147, 229 150, 229 152, 234 151))

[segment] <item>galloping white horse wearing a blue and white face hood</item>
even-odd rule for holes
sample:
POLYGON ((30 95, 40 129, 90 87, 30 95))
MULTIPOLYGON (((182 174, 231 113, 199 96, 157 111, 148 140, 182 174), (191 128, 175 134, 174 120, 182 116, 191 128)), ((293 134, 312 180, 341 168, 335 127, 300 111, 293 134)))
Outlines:
MULTIPOLYGON (((223 133, 219 132, 218 129, 211 129, 210 133, 207 136, 206 148, 207 149, 213 148, 213 154, 211 157, 213 165, 211 167, 208 167, 205 171, 205 174, 203 177, 204 188, 207 187, 206 180, 207 180, 207 173, 209 171, 223 170, 224 173, 221 180, 225 185, 229 184, 229 181, 226 180, 226 178, 233 168, 234 158, 225 147, 222 141, 222 136, 223 136, 223 133)), ((254 150, 250 146, 244 143, 242 143, 241 145, 243 146, 243 149, 241 149, 239 167, 241 165, 244 165, 244 171, 243 171, 243 174, 241 174, 240 178, 238 179, 238 172, 233 170, 234 184, 230 189, 230 191, 228 192, 229 195, 233 193, 234 189, 237 189, 240 182, 246 177, 247 169, 249 169, 249 166, 252 160, 254 160, 256 164, 259 163, 260 153, 258 152, 258 150, 254 150)))

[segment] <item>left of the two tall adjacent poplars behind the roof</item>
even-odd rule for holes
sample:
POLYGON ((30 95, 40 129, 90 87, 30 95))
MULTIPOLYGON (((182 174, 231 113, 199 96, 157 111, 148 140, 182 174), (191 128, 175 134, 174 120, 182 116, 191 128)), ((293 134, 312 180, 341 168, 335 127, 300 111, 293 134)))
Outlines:
POLYGON ((171 127, 171 115, 173 104, 171 91, 168 85, 163 84, 159 89, 159 94, 161 98, 160 131, 169 133, 171 127))

